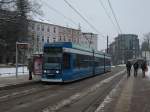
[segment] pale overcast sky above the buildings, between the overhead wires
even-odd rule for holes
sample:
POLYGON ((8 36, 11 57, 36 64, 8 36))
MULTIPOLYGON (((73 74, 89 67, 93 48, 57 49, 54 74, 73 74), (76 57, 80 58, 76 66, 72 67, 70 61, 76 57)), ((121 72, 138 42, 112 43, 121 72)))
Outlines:
MULTIPOLYGON (((78 28, 80 23, 83 32, 95 32, 88 26, 63 0, 40 0, 43 10, 43 18, 50 23, 78 28), (53 7, 71 18, 76 24, 65 19, 60 14, 54 12, 53 7)), ((110 42, 118 35, 118 31, 112 25, 99 0, 68 0, 80 13, 99 30, 103 35, 109 35, 110 42)), ((107 12, 111 14, 107 0, 102 0, 107 12)), ((119 21, 123 33, 137 34, 140 40, 145 33, 150 31, 150 0, 110 0, 114 12, 119 21)), ((98 37, 98 49, 106 48, 106 38, 98 37)))

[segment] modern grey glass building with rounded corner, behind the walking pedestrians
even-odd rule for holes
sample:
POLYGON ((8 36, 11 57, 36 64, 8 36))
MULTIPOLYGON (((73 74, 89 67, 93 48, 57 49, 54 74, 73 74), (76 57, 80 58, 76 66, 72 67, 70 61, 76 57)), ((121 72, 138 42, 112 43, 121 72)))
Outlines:
POLYGON ((124 64, 140 54, 139 39, 134 34, 120 34, 109 46, 113 64, 124 64))

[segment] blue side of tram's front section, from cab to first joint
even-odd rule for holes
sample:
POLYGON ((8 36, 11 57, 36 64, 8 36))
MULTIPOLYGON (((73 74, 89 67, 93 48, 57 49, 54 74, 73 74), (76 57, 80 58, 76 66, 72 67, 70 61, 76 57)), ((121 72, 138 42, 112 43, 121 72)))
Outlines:
POLYGON ((87 58, 81 54, 70 54, 70 69, 63 70, 63 80, 73 81, 92 76, 93 66, 87 58))

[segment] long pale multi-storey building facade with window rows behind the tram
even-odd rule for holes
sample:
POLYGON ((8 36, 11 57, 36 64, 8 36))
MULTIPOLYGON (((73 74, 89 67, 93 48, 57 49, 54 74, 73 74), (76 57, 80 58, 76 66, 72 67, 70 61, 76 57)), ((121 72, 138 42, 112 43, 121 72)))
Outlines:
POLYGON ((97 34, 82 33, 80 29, 49 23, 30 21, 29 36, 33 53, 41 53, 43 45, 51 42, 73 42, 86 48, 97 49, 97 34))

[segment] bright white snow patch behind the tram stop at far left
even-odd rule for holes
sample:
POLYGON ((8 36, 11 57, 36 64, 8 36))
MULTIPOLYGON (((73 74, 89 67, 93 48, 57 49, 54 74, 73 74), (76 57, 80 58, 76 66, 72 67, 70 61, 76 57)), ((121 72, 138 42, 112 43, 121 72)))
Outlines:
MULTIPOLYGON (((18 75, 26 75, 28 73, 27 67, 18 67, 18 75)), ((0 68, 0 77, 9 77, 16 75, 16 68, 0 68)))

